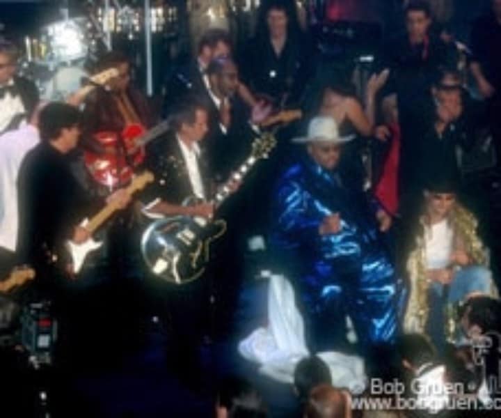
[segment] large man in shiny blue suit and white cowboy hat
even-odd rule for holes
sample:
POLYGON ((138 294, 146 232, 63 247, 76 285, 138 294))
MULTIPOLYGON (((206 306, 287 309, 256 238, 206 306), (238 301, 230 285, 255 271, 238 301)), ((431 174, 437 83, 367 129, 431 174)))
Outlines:
POLYGON ((397 329, 395 271, 382 233, 391 219, 337 172, 349 139, 332 118, 313 118, 307 137, 294 139, 306 155, 273 194, 271 251, 295 288, 314 352, 337 346, 346 315, 363 348, 392 341, 397 329))

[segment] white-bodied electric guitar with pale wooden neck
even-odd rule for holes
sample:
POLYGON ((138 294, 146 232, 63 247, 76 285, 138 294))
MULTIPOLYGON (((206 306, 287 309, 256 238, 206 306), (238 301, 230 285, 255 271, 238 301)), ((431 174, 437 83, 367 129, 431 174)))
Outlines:
MULTIPOLYGON (((132 180, 132 183, 126 189, 127 194, 134 194, 134 192, 143 189, 145 185, 151 183, 153 180, 153 174, 150 173, 150 171, 145 171, 143 174, 136 176, 132 180)), ((89 231, 90 235, 92 235, 106 221, 106 219, 108 219, 111 215, 113 215, 114 212, 116 212, 116 210, 118 210, 118 205, 111 202, 104 208, 102 208, 102 210, 100 210, 100 212, 97 213, 97 215, 95 215, 92 219, 84 219, 84 221, 81 222, 80 226, 84 226, 84 228, 89 231)), ((92 236, 81 244, 77 244, 72 240, 68 240, 66 242, 66 247, 68 252, 70 253, 74 273, 78 273, 81 270, 86 261, 87 255, 90 252, 100 248, 101 246, 102 242, 93 240, 92 236)))

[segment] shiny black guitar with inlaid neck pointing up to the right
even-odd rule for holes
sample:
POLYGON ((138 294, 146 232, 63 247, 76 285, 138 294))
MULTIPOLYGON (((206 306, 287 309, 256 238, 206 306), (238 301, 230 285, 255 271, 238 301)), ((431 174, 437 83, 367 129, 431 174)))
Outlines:
MULTIPOLYGON (((212 203, 217 209, 234 192, 248 171, 262 158, 266 158, 276 145, 271 133, 255 139, 250 156, 230 179, 218 188, 212 203)), ((188 199, 186 205, 193 199, 188 199)), ((150 271, 173 284, 181 285, 198 279, 209 262, 210 245, 226 230, 223 219, 176 216, 152 222, 141 238, 141 254, 150 271)))

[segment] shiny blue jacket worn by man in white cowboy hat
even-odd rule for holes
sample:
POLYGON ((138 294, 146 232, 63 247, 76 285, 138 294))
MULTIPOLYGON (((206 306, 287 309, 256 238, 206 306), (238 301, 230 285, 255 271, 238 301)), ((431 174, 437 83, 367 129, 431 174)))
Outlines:
POLYGON ((338 173, 305 157, 285 171, 274 191, 272 251, 289 267, 308 260, 313 264, 342 261, 345 267, 360 268, 369 259, 387 259, 375 217, 379 208, 366 193, 344 187, 338 173), (341 231, 319 235, 323 219, 335 212, 340 215, 341 231))

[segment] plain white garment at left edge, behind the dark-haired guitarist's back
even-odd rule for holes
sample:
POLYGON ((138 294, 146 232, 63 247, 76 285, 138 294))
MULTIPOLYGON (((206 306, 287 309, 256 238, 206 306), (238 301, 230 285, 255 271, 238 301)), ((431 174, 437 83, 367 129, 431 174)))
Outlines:
POLYGON ((17 245, 17 173, 24 156, 39 141, 33 125, 0 136, 0 247, 10 251, 17 245))

